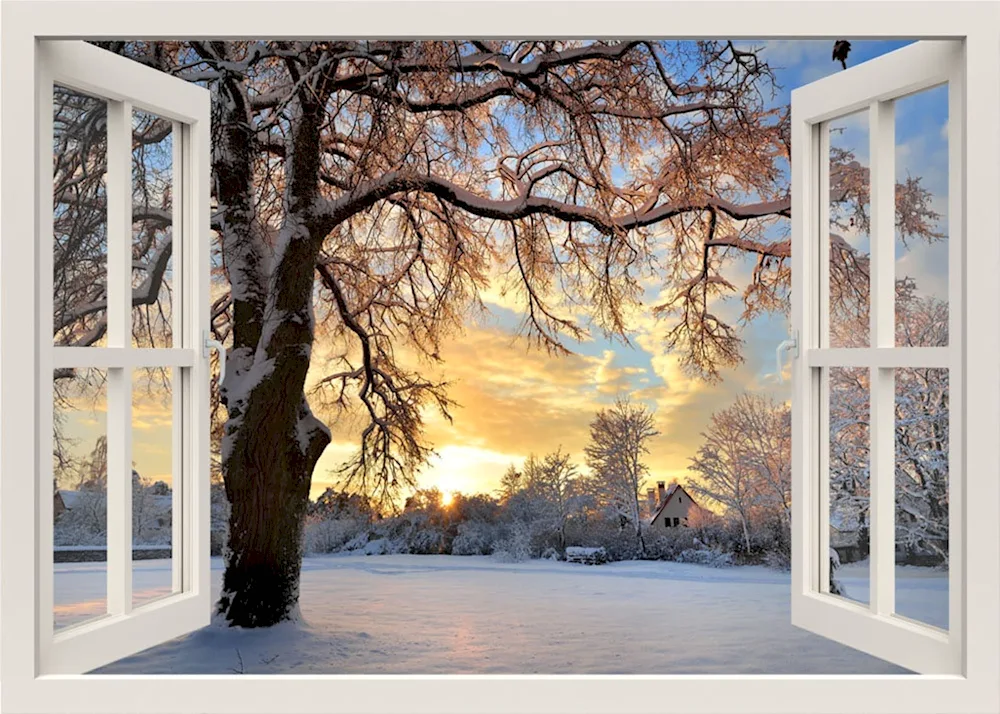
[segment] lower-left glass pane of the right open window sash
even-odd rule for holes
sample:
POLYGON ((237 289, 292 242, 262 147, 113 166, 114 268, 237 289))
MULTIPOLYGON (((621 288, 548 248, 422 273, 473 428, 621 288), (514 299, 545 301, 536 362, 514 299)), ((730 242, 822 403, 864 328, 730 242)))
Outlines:
POLYGON ((869 598, 869 373, 830 368, 830 591, 869 598), (839 562, 839 567, 837 563, 839 562))

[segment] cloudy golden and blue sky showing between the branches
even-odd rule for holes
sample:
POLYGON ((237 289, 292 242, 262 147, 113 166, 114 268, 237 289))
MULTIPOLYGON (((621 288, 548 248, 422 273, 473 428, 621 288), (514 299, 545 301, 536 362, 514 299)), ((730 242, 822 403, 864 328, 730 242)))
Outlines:
MULTIPOLYGON (((742 43, 763 47, 763 56, 775 69, 780 91, 774 105, 789 102, 792 88, 841 71, 831 61, 832 41, 782 40, 742 43)), ((849 65, 889 52, 904 44, 853 42, 849 65)), ((834 145, 849 145, 867 163, 868 133, 863 116, 835 120, 834 145), (842 128, 842 131, 839 129, 842 128)), ((947 203, 947 90, 939 88, 897 102, 897 180, 907 173, 923 177, 934 195, 934 208, 946 217, 947 203)), ((867 237, 845 236, 860 250, 867 237)), ((749 276, 749 264, 737 265, 727 277, 738 287, 749 276)), ((924 294, 946 297, 947 250, 942 244, 897 249, 897 276, 914 277, 924 294)), ((520 466, 531 453, 544 454, 562 447, 582 466, 588 425, 595 412, 627 395, 655 410, 660 434, 649 444, 649 485, 657 480, 692 478, 690 457, 701 442, 712 412, 728 406, 744 390, 762 392, 784 401, 787 382, 775 372, 775 347, 786 337, 784 316, 755 320, 742 330, 745 363, 722 372, 722 381, 707 384, 683 374, 678 358, 664 344, 667 325, 658 323, 649 309, 655 299, 634 316, 636 329, 630 344, 611 342, 599 334, 570 343, 572 354, 551 356, 529 348, 518 336, 521 307, 494 285, 483 295, 485 315, 470 316, 461 334, 442 346, 438 374, 452 383, 449 396, 459 406, 454 423, 427 413, 426 436, 436 455, 418 475, 423 487, 463 493, 490 492, 511 464, 520 466)), ((742 311, 739 297, 717 308, 735 323, 742 311)), ((310 379, 321 376, 313 370, 310 379)), ((103 415, 80 412, 67 421, 67 432, 77 436, 80 448, 92 448, 103 415)), ((165 402, 137 397, 134 405, 136 468, 144 476, 169 481, 170 419, 165 402), (141 463, 140 463, 141 460, 141 463)), ((333 472, 355 450, 350 433, 334 429, 313 475, 315 497, 333 484, 333 472)))

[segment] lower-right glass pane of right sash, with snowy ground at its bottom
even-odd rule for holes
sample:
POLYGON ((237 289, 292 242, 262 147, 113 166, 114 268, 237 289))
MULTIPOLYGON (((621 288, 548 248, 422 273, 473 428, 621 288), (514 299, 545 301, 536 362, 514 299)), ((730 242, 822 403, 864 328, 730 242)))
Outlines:
POLYGON ((896 370, 896 614, 948 628, 948 370, 896 370))

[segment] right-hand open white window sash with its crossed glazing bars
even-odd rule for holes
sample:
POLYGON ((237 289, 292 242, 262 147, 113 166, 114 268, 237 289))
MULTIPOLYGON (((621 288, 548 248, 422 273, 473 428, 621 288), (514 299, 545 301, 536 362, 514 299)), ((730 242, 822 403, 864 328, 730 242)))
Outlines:
POLYGON ((962 674, 965 620, 962 339, 965 53, 921 41, 792 92, 792 623, 921 674, 962 674), (947 85, 949 346, 896 347, 894 100, 947 85), (831 348, 829 122, 868 110, 871 227, 869 347, 831 348), (829 370, 869 370, 869 604, 830 594, 829 370), (950 418, 949 630, 895 612, 893 370, 947 369, 950 418))

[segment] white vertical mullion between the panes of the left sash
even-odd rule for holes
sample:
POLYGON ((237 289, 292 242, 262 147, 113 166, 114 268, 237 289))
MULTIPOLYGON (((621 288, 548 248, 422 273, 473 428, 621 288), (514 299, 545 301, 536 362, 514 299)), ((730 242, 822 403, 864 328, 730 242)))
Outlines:
MULTIPOLYGON (((108 102, 108 346, 132 348, 132 105, 108 102)), ((126 361, 127 365, 128 362, 126 361)), ((108 613, 132 609, 132 369, 108 370, 108 613)))

